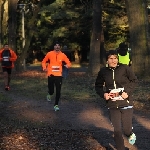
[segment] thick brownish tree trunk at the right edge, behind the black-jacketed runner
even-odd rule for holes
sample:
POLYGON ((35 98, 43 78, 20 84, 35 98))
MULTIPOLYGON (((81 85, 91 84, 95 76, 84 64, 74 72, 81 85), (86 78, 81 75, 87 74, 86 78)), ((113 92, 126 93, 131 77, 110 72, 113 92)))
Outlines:
POLYGON ((136 75, 149 74, 148 22, 144 1, 126 0, 129 20, 130 45, 132 50, 132 68, 136 75))

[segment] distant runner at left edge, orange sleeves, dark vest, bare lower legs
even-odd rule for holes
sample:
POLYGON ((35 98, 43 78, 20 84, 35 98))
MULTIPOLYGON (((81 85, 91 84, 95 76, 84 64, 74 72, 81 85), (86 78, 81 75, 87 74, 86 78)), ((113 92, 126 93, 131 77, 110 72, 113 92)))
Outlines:
POLYGON ((4 48, 0 50, 0 62, 4 74, 5 90, 10 89, 10 79, 12 68, 14 68, 14 62, 17 59, 16 53, 9 48, 8 44, 4 45, 4 48))

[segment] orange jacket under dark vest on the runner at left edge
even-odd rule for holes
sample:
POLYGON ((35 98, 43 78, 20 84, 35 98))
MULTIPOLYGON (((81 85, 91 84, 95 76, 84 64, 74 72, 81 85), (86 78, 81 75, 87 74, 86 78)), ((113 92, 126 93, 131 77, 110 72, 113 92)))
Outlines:
MULTIPOLYGON (((3 50, 4 49, 0 50, 0 62, 3 61, 3 58, 2 58, 2 52, 3 52, 3 50)), ((14 62, 17 59, 17 55, 16 55, 16 53, 12 49, 9 49, 9 51, 10 51, 10 55, 11 55, 10 58, 9 58, 9 61, 12 61, 12 66, 10 66, 10 67, 2 66, 2 67, 6 67, 6 68, 13 68, 14 67, 14 62)))

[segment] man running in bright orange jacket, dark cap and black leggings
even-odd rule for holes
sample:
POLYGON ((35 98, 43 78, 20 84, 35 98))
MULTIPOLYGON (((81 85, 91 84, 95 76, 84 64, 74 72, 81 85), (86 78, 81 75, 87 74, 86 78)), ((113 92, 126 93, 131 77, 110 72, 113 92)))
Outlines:
POLYGON ((58 111, 58 102, 60 99, 62 85, 62 62, 65 62, 65 67, 70 68, 71 62, 67 56, 61 52, 59 42, 54 44, 54 50, 46 54, 42 61, 43 71, 47 72, 48 76, 48 95, 47 100, 51 101, 51 96, 54 94, 54 85, 56 87, 56 97, 54 110, 58 111))

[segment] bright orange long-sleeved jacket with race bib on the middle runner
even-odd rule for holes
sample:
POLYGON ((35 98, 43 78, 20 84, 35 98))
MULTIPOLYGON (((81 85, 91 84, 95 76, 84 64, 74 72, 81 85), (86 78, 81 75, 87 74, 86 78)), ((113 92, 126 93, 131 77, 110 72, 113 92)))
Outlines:
POLYGON ((71 62, 61 51, 56 52, 53 50, 48 52, 42 61, 42 68, 43 70, 47 69, 47 76, 51 74, 54 76, 62 76, 62 61, 66 63, 68 68, 71 66, 71 62))

